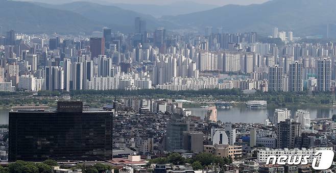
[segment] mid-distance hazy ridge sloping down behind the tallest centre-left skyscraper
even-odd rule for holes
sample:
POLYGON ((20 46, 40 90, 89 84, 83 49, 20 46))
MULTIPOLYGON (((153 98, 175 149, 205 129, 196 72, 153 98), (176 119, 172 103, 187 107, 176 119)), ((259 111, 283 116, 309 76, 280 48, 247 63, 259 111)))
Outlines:
MULTIPOLYGON (((157 27, 165 27, 165 28, 172 27, 172 24, 161 22, 160 20, 151 15, 141 14, 111 5, 101 5, 90 2, 73 2, 61 5, 37 3, 37 5, 46 8, 75 12, 90 20, 98 21, 101 23, 128 26, 130 31, 134 30, 133 28, 135 17, 141 17, 145 19, 147 21, 147 28, 149 30, 154 30, 157 27)), ((114 28, 112 29, 114 30, 114 28)))

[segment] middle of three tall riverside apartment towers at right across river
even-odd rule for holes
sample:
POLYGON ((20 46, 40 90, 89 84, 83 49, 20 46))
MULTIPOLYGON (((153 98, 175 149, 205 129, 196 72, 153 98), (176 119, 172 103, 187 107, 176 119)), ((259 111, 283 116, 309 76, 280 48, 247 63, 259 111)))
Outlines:
POLYGON ((303 91, 302 63, 299 61, 290 64, 289 90, 293 92, 303 91))

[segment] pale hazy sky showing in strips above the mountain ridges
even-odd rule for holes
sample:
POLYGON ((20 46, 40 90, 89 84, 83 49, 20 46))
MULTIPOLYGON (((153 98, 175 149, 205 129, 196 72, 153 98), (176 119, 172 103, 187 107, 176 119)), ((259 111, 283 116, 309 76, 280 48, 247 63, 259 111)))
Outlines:
MULTIPOLYGON (((128 4, 171 4, 179 0, 103 0, 112 3, 128 3, 128 4)), ((249 4, 261 4, 268 0, 189 0, 200 4, 213 4, 223 6, 227 4, 249 5, 249 4)), ((93 0, 94 2, 94 0, 93 0)))

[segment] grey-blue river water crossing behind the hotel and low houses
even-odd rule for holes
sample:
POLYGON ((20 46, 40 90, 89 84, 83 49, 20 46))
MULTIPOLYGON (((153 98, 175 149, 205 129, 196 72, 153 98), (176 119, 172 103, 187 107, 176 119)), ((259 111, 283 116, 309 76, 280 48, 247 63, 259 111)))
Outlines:
MULTIPOLYGON (((263 123, 267 119, 267 115, 273 120, 273 113, 276 108, 268 106, 266 109, 250 109, 245 106, 234 106, 230 109, 217 109, 218 120, 222 122, 247 122, 247 123, 263 123)), ((310 112, 310 118, 328 118, 336 114, 336 107, 307 107, 307 106, 289 106, 286 107, 292 111, 294 117, 295 111, 298 109, 310 112)), ((204 118, 207 108, 187 108, 194 116, 204 118)), ((0 109, 0 124, 8 124, 8 112, 10 109, 0 109)))

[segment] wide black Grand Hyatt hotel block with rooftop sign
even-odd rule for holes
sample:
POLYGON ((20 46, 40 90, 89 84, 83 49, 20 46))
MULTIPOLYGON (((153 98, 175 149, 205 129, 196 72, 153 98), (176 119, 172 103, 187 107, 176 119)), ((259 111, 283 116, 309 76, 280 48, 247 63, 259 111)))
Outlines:
POLYGON ((82 102, 58 102, 56 112, 10 112, 8 159, 112 159, 112 118, 112 112, 83 112, 82 102))

